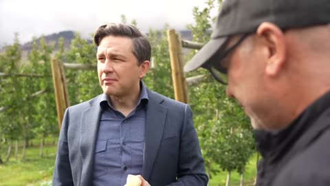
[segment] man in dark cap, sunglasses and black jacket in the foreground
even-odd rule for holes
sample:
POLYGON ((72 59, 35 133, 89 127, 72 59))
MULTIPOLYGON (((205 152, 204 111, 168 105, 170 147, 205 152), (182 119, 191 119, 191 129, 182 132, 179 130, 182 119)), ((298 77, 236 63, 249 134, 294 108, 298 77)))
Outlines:
POLYGON ((226 0, 184 68, 209 70, 250 116, 257 185, 330 185, 329 23, 329 0, 226 0))

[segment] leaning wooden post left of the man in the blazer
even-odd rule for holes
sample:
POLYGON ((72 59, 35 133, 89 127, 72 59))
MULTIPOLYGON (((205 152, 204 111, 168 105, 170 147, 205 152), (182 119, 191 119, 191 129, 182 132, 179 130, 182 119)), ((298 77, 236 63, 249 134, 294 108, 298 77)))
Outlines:
POLYGON ((67 94, 67 85, 65 83, 65 72, 63 64, 56 59, 52 59, 52 75, 55 92, 56 110, 58 118, 58 127, 61 130, 61 125, 64 117, 64 112, 69 107, 69 97, 67 94))

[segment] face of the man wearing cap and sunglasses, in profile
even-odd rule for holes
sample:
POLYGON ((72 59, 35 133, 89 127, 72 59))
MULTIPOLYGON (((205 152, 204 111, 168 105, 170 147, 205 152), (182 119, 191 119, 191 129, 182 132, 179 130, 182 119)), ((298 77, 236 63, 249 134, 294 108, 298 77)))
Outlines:
MULTIPOLYGON (((228 45, 234 45, 238 40, 239 37, 233 38, 228 45)), ((250 36, 221 63, 228 68, 226 93, 244 107, 254 129, 265 129, 271 105, 263 81, 265 61, 257 45, 250 36)))

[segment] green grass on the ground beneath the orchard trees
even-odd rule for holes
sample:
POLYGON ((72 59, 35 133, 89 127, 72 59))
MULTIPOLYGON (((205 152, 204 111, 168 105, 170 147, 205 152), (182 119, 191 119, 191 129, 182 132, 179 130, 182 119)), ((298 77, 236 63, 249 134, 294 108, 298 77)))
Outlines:
MULTIPOLYGON (((52 144, 49 141, 47 144, 52 144)), ((54 161, 56 156, 56 145, 46 145, 44 147, 44 157, 39 156, 39 145, 34 141, 34 146, 29 147, 26 152, 25 160, 16 160, 14 152, 8 162, 0 164, 0 186, 20 186, 20 185, 37 185, 46 186, 51 185, 52 173, 54 170, 54 161)), ((1 148, 1 158, 5 157, 7 149, 1 148)), ((21 149, 19 149, 21 152, 21 149)), ((19 154, 21 158, 21 154, 19 154)), ((245 169, 245 186, 253 185, 256 173, 256 155, 252 156, 250 162, 245 169)), ((219 172, 217 175, 212 176, 209 186, 223 186, 227 172, 219 172)), ((232 172, 230 185, 239 185, 240 175, 232 172)))

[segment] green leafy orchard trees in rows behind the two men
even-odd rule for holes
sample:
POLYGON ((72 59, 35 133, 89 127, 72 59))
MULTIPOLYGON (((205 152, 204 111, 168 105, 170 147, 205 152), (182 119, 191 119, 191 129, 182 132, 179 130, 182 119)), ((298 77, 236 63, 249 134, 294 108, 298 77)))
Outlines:
MULTIPOLYGON (((187 28, 192 32, 193 41, 206 43, 210 39, 211 26, 215 21, 210 12, 214 9, 219 10, 221 3, 221 0, 207 0, 206 8, 192 10, 195 23, 187 28)), ((127 22, 124 15, 122 22, 127 22)), ((137 25, 134 20, 131 23, 137 25)), ((144 83, 151 90, 174 98, 166 38, 168 28, 170 25, 166 24, 162 30, 150 29, 148 32, 154 68, 148 72, 144 83)), ((63 39, 56 43, 57 50, 54 43, 46 43, 43 38, 40 41, 34 38, 33 41, 32 50, 25 61, 19 47, 18 34, 14 44, 6 46, 5 52, 0 54, 0 72, 43 76, 7 76, 0 79, 0 149, 15 146, 14 154, 17 157, 19 141, 23 141, 22 159, 25 158, 25 149, 28 148, 29 141, 41 140, 40 155, 43 156, 45 138, 58 136, 51 59, 56 58, 65 63, 96 64, 95 45, 80 37, 78 33, 67 50, 64 48, 63 39)), ((189 54, 184 56, 185 61, 196 52, 190 50, 189 54)), ((65 73, 70 105, 87 101, 102 93, 96 69, 66 70, 65 73)), ((194 112, 195 127, 199 134, 207 172, 211 178, 221 171, 243 173, 245 165, 254 153, 249 119, 235 101, 225 96, 225 87, 214 81, 206 70, 200 69, 186 76, 197 74, 204 74, 206 78, 203 83, 188 87, 189 104, 194 112)), ((0 154, 0 160, 8 161, 10 154, 11 149, 8 148, 6 157, 0 154)))

